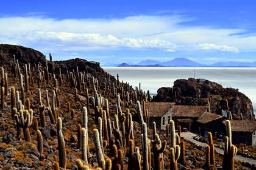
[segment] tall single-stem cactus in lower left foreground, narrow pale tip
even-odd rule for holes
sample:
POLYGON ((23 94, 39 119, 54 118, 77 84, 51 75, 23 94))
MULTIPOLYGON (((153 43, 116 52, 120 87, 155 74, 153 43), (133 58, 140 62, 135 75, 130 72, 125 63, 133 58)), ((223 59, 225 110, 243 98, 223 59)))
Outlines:
POLYGON ((58 148, 59 148, 59 165, 62 168, 66 168, 66 148, 65 140, 62 133, 62 118, 57 120, 57 135, 58 135, 58 148))

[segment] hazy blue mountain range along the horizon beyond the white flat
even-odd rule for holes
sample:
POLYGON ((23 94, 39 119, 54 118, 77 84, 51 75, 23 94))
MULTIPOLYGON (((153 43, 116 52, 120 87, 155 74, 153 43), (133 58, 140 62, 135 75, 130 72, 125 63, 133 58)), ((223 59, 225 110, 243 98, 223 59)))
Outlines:
POLYGON ((238 62, 238 61, 227 61, 219 62, 214 64, 200 64, 187 58, 175 58, 174 60, 160 62, 156 60, 145 60, 140 63, 122 63, 118 64, 118 67, 256 67, 256 61, 253 63, 249 62, 238 62))

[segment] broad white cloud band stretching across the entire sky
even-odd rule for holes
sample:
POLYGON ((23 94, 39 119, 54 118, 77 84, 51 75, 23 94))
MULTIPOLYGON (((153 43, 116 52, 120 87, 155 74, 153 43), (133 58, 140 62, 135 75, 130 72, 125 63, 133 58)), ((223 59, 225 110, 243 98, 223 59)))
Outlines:
POLYGON ((190 20, 180 15, 62 20, 4 17, 0 18, 0 43, 20 44, 43 52, 122 48, 256 51, 255 35, 234 36, 246 30, 180 24, 190 20))

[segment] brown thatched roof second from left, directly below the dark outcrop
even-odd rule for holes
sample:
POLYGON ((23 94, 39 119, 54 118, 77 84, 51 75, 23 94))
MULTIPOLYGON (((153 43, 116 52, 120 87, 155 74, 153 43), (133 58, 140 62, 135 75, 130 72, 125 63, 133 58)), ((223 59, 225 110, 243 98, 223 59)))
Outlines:
POLYGON ((207 106, 175 105, 171 109, 172 117, 197 118, 207 111, 207 106))

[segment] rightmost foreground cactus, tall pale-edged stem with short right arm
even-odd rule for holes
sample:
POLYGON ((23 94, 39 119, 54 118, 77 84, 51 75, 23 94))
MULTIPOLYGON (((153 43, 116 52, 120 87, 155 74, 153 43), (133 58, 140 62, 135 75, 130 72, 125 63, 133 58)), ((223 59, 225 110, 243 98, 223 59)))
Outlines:
POLYGON ((232 130, 230 121, 226 121, 226 134, 225 138, 225 149, 223 158, 223 169, 233 170, 234 169, 234 156, 237 153, 237 148, 232 144, 232 130))

